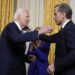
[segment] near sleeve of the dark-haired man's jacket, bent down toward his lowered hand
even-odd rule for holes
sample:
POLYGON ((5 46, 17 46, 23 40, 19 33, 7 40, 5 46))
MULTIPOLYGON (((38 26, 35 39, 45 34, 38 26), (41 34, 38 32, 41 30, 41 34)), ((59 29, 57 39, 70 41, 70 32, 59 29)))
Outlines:
POLYGON ((63 72, 66 69, 75 65, 75 29, 71 28, 66 30, 66 47, 67 54, 58 62, 55 62, 55 72, 63 72))

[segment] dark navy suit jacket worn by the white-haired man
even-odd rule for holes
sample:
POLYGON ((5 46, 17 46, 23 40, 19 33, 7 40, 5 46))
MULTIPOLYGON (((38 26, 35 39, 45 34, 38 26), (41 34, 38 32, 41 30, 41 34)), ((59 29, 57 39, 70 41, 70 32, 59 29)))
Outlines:
POLYGON ((0 75, 25 75, 24 54, 26 41, 38 39, 38 32, 21 33, 14 22, 9 23, 0 38, 0 75))

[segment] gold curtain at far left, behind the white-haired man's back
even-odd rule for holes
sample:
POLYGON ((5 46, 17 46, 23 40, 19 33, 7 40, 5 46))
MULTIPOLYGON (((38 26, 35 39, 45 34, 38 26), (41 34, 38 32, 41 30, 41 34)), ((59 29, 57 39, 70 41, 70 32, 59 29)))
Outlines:
POLYGON ((14 0, 0 0, 0 33, 6 24, 13 19, 14 0))

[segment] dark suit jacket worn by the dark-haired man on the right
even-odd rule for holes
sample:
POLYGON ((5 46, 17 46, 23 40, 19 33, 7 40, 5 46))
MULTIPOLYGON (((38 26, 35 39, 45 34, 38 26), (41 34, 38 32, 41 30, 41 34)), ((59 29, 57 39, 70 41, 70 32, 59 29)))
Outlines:
POLYGON ((68 22, 64 29, 52 36, 41 35, 41 40, 56 43, 55 75, 75 75, 75 25, 68 22))

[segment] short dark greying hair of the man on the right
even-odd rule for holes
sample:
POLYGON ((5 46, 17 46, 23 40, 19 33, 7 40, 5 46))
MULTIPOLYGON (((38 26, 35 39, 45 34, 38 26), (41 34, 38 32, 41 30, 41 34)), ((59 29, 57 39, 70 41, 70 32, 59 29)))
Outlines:
POLYGON ((58 7, 59 12, 64 12, 66 14, 67 19, 72 18, 72 9, 71 7, 66 3, 57 4, 55 8, 58 7))

